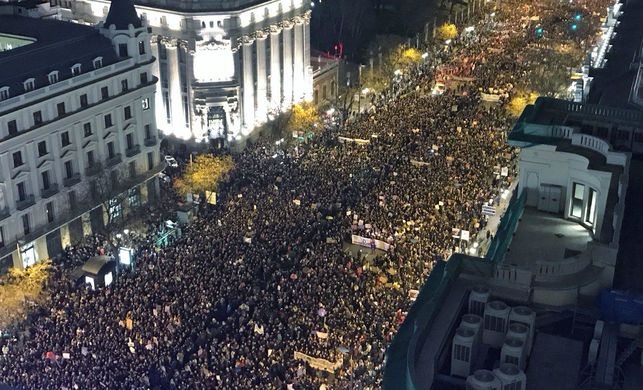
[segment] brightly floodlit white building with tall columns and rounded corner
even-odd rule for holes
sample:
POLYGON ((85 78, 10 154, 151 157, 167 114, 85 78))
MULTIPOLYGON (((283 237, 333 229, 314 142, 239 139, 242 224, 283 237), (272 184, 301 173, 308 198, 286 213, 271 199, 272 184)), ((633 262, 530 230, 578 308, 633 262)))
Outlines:
MULTIPOLYGON (((81 22, 108 0, 60 2, 81 22)), ((137 0, 159 59, 157 123, 179 139, 243 138, 312 96, 310 3, 304 0, 137 0)))

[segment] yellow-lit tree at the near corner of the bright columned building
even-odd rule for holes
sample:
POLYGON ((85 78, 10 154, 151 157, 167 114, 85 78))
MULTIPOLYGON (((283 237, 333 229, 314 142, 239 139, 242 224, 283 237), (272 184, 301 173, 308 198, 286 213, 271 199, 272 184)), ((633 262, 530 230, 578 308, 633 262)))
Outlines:
POLYGON ((181 177, 174 181, 174 188, 182 196, 214 192, 219 182, 234 168, 230 156, 202 154, 194 158, 181 177))

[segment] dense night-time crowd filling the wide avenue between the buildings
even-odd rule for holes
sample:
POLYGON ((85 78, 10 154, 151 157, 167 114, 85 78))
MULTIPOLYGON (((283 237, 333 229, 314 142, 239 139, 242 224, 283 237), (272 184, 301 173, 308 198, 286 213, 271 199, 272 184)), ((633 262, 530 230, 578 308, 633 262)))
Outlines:
POLYGON ((507 114, 480 102, 481 88, 511 93, 523 77, 512 59, 530 38, 503 35, 507 16, 499 11, 505 24, 481 23, 479 37, 435 50, 347 126, 296 149, 263 140, 235 156, 219 204, 173 245, 141 240, 136 271, 110 287, 78 289, 65 277, 67 265, 109 250, 104 238, 69 248, 39 315, 0 341, 0 382, 379 388, 409 293, 433 261, 459 250, 453 228, 484 232, 482 204, 515 172, 507 114), (486 55, 489 45, 500 53, 486 55), (433 96, 444 67, 475 80, 433 96), (392 247, 366 260, 345 250, 352 234, 392 247))

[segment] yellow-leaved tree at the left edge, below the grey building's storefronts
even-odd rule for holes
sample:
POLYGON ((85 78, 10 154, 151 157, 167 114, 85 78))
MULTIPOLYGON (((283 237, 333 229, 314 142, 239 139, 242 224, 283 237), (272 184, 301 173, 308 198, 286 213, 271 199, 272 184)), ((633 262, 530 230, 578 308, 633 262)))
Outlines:
POLYGON ((28 305, 38 303, 50 265, 49 261, 44 261, 25 270, 11 268, 0 279, 0 329, 24 320, 28 305))

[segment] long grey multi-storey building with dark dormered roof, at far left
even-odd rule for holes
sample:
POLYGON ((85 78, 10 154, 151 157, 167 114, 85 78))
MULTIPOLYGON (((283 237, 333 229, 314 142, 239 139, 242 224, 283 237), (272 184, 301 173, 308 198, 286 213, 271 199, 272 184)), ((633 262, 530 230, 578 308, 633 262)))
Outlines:
POLYGON ((0 259, 26 267, 153 199, 164 167, 150 33, 0 15, 0 259))

